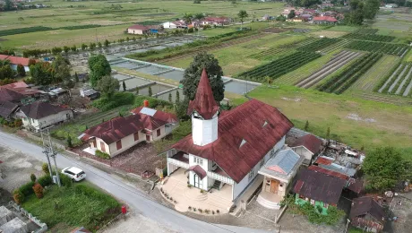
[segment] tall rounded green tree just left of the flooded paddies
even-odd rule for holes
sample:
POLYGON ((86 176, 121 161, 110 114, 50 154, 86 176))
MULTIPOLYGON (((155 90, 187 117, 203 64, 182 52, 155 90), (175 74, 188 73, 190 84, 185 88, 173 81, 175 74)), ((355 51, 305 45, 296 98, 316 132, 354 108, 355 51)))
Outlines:
POLYGON ((90 83, 92 87, 96 87, 101 77, 109 75, 112 72, 110 64, 107 62, 106 56, 90 56, 90 83))

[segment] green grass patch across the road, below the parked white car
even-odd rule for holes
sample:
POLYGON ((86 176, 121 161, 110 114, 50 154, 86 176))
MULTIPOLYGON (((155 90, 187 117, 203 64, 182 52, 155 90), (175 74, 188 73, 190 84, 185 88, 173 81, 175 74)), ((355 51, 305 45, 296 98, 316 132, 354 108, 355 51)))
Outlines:
POLYGON ((22 207, 53 229, 64 224, 69 229, 85 227, 93 232, 120 213, 120 203, 86 181, 72 187, 50 186, 44 197, 26 197, 22 207))

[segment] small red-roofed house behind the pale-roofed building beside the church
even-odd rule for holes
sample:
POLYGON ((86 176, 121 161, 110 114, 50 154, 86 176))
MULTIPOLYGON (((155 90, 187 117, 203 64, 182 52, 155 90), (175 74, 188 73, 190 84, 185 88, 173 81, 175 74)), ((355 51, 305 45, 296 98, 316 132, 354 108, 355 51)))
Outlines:
POLYGON ((322 151, 322 140, 313 134, 306 134, 296 139, 290 147, 298 155, 303 156, 305 158, 304 164, 309 166, 313 158, 322 151))

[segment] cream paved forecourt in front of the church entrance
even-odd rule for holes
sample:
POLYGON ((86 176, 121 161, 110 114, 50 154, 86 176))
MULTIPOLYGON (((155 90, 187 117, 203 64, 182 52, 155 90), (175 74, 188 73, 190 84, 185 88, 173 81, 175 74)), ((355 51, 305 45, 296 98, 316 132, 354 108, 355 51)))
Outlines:
POLYGON ((217 212, 217 210, 219 210, 220 213, 228 212, 230 206, 233 204, 232 186, 225 184, 220 190, 211 189, 211 192, 201 192, 200 188, 188 186, 188 175, 189 172, 185 172, 185 168, 178 168, 167 177, 163 185, 159 186, 168 196, 176 201, 176 211, 185 212, 188 211, 189 206, 191 206, 196 209, 200 208, 203 211, 210 210, 217 212))

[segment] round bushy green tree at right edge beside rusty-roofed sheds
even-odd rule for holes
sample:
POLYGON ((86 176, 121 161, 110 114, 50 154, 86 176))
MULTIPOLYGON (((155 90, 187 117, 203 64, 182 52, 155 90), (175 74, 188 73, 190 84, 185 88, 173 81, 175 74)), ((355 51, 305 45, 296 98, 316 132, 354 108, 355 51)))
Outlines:
POLYGON ((399 151, 392 147, 377 148, 365 158, 362 169, 367 186, 378 191, 395 187, 407 173, 407 163, 399 151))

